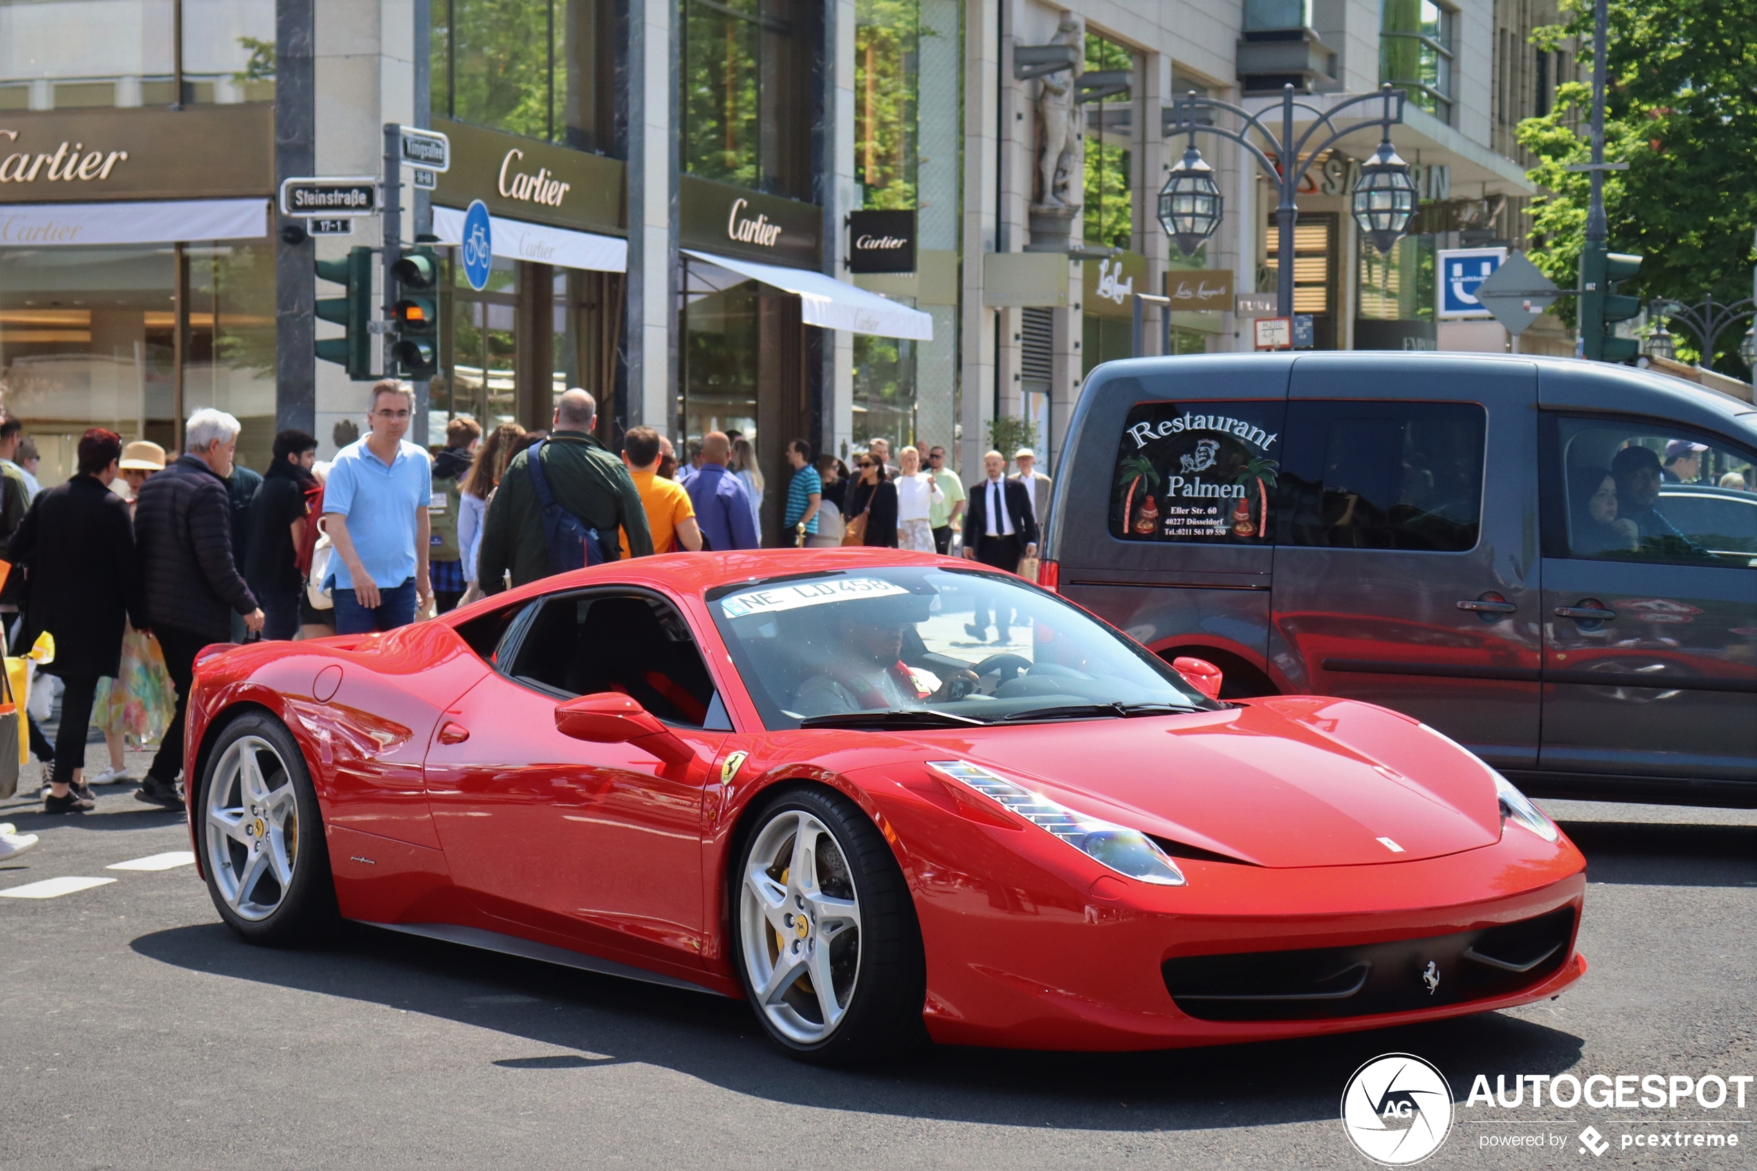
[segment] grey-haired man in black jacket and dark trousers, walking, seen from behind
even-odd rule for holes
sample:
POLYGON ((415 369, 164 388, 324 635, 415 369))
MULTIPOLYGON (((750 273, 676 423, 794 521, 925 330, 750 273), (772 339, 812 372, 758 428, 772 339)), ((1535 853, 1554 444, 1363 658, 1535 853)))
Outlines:
POLYGON ((239 430, 225 411, 204 407, 192 414, 183 428, 183 456, 141 485, 134 506, 146 618, 177 688, 176 715, 135 797, 167 809, 183 806, 177 774, 197 651, 232 637, 234 613, 246 629, 262 630, 262 611, 232 555, 227 478, 239 430))

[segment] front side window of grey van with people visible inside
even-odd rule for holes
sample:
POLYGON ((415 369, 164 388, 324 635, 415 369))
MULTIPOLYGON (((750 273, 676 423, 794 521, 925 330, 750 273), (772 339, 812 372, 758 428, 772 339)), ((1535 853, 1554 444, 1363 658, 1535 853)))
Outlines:
POLYGON ((1753 456, 1648 420, 1555 418, 1544 553, 1757 567, 1753 456))

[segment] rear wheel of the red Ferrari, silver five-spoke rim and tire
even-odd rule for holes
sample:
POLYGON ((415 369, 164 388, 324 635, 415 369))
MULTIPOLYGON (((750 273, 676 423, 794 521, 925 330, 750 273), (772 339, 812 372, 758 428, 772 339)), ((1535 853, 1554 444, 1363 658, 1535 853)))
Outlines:
POLYGON ((248 711, 227 723, 202 767, 193 816, 207 894, 239 938, 292 946, 334 930, 339 920, 323 813, 304 753, 286 725, 265 711, 248 711), (265 799, 251 801, 246 790, 241 776, 246 753, 265 799), (225 787, 221 809, 213 806, 216 785, 225 787), (235 823, 230 818, 234 804, 241 816, 235 823), (257 866, 267 867, 267 874, 253 874, 253 855, 265 850, 269 853, 257 866), (276 860, 290 862, 285 887, 276 860))

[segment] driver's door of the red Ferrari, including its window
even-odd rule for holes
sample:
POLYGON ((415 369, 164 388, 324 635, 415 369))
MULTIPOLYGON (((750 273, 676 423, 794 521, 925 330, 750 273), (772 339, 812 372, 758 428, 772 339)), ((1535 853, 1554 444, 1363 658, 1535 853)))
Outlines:
POLYGON ((532 602, 506 639, 427 751, 453 881, 587 950, 698 967, 701 801, 731 723, 689 625, 655 593, 587 590, 532 602), (555 706, 592 692, 636 697, 698 760, 557 732, 555 706))

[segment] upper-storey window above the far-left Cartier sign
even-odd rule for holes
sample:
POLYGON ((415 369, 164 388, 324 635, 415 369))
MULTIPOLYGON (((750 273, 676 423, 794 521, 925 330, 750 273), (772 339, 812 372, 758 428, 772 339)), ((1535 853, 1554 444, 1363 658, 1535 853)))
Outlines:
POLYGON ((274 0, 0 4, 0 112, 272 100, 274 0))

